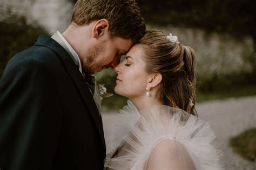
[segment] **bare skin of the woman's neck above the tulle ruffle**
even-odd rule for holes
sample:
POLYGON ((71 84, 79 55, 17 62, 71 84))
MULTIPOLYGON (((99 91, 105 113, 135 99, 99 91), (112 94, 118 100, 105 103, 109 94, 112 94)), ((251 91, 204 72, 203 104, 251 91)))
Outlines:
POLYGON ((138 108, 138 110, 144 110, 150 108, 153 105, 161 105, 161 103, 152 96, 141 96, 136 98, 131 98, 132 103, 138 108))

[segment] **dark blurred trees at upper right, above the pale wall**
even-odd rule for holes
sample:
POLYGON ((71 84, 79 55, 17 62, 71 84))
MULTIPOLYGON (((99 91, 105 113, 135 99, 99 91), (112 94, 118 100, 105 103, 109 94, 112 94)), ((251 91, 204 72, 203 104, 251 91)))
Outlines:
POLYGON ((228 33, 237 39, 251 36, 254 52, 250 58, 256 72, 256 1, 194 0, 138 1, 146 23, 204 29, 206 32, 228 33))

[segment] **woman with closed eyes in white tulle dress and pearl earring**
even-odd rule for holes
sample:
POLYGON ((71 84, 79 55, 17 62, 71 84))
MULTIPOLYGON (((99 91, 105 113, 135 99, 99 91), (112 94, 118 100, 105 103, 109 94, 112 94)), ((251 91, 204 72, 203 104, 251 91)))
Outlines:
POLYGON ((115 68, 128 97, 116 126, 120 145, 107 169, 222 169, 210 124, 194 109, 194 52, 176 36, 148 30, 115 68))

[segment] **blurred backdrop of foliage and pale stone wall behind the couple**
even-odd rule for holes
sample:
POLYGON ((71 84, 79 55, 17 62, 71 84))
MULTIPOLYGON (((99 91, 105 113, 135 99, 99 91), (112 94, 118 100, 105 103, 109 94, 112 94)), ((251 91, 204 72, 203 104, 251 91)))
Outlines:
MULTIPOLYGON (((2 0, 0 2, 0 77, 15 53, 69 25, 72 0, 2 0)), ((139 0, 147 28, 177 35, 196 50, 197 101, 256 94, 256 1, 139 0)), ((114 93, 116 73, 96 74, 114 93)), ((126 98, 103 99, 103 111, 117 110, 126 98)))

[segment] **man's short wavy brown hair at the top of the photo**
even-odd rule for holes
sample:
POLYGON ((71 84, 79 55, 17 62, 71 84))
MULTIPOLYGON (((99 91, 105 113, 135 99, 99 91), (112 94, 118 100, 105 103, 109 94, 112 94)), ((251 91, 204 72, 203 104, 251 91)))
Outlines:
POLYGON ((132 39, 133 43, 137 43, 145 34, 144 19, 134 0, 78 0, 76 2, 72 23, 85 25, 97 19, 109 21, 111 37, 132 39))

